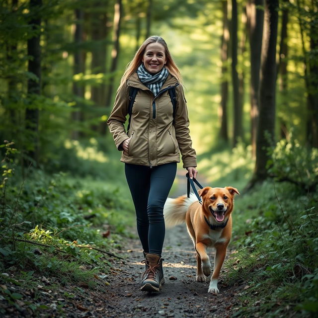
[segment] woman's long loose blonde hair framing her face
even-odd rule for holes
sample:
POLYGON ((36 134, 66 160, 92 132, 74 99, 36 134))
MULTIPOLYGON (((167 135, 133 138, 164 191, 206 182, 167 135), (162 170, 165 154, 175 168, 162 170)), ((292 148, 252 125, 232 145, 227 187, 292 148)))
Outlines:
POLYGON ((135 54, 134 58, 132 59, 132 61, 127 65, 125 73, 124 73, 123 77, 120 80, 120 85, 119 85, 118 89, 120 87, 122 87, 126 83, 126 80, 134 72, 136 72, 136 70, 139 68, 139 66, 143 63, 142 62, 142 58, 144 56, 144 53, 145 53, 147 45, 151 44, 151 43, 156 43, 156 42, 160 43, 164 47, 164 51, 165 51, 164 53, 165 53, 165 57, 167 59, 166 64, 165 64, 165 68, 180 83, 182 83, 182 78, 181 78, 180 71, 179 71, 178 67, 176 66, 176 64, 174 63, 174 61, 172 60, 172 57, 171 57, 171 54, 169 52, 167 44, 165 43, 165 41, 160 36, 153 35, 153 36, 151 36, 151 37, 149 37, 148 39, 145 40, 145 42, 140 46, 140 48, 136 52, 136 54, 135 54))

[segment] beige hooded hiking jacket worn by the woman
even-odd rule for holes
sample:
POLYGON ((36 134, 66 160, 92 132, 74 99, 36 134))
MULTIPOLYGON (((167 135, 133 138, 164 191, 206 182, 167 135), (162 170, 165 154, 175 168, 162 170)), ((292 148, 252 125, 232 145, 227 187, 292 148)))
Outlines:
POLYGON ((122 142, 132 137, 128 153, 122 153, 121 161, 155 166, 180 162, 181 152, 183 167, 195 167, 196 154, 189 135, 188 111, 182 85, 169 74, 160 92, 154 97, 154 93, 141 83, 137 73, 118 90, 107 125, 119 151, 123 151, 122 142), (132 108, 130 129, 126 133, 124 123, 128 114, 130 86, 139 90, 132 108), (165 90, 171 86, 176 86, 174 120, 171 99, 168 90, 165 90))

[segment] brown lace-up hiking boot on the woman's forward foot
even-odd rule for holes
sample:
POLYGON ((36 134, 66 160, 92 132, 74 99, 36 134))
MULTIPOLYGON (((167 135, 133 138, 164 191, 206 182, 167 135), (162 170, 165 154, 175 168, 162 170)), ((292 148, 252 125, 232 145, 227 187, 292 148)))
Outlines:
POLYGON ((162 269, 163 258, 157 254, 146 253, 145 262, 146 269, 143 278, 141 290, 145 292, 159 292, 161 285, 164 284, 163 269, 162 269))

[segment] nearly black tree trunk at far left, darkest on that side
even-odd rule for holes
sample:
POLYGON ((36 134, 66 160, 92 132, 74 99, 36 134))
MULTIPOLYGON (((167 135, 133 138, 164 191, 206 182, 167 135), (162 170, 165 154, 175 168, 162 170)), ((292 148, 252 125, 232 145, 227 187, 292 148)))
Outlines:
MULTIPOLYGON (((42 0, 30 0, 29 9, 30 14, 32 14, 33 17, 29 24, 33 31, 37 31, 36 34, 27 41, 28 56, 31 57, 28 61, 28 72, 34 74, 36 77, 36 79, 28 79, 27 89, 30 100, 33 99, 32 95, 41 94, 41 17, 39 13, 39 8, 41 6, 42 0)), ((26 108, 25 125, 26 131, 29 132, 31 136, 31 144, 27 151, 27 155, 37 163, 39 130, 39 109, 37 107, 26 108)))

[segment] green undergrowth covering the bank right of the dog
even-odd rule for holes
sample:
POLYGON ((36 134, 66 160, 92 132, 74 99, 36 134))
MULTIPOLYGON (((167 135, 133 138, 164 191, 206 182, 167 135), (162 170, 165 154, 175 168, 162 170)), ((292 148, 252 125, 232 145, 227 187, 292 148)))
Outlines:
POLYGON ((315 152, 302 161, 308 151, 296 141, 279 143, 269 162, 276 178, 236 199, 226 280, 243 288, 232 317, 316 317, 318 193, 302 187, 317 178, 315 152))

